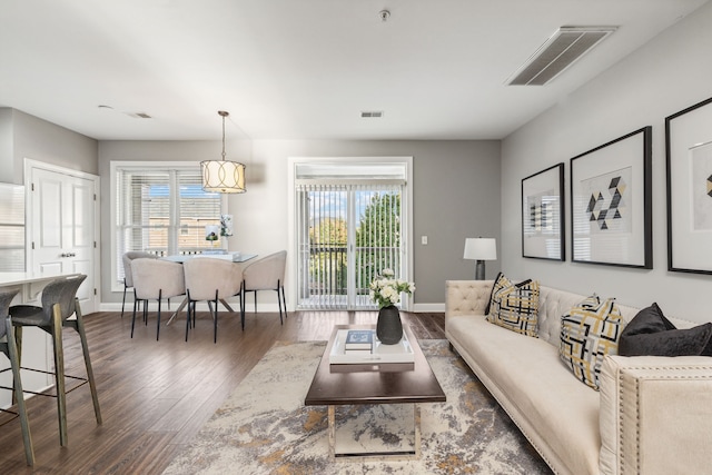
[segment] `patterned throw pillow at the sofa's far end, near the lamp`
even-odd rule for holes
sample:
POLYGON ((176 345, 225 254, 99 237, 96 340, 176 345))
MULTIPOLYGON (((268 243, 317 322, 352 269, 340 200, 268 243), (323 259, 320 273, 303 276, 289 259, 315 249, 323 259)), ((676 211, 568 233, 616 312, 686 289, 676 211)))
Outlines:
POLYGON ((538 337, 538 281, 524 280, 492 295, 487 321, 526 336, 538 337))

